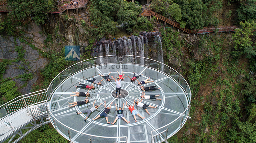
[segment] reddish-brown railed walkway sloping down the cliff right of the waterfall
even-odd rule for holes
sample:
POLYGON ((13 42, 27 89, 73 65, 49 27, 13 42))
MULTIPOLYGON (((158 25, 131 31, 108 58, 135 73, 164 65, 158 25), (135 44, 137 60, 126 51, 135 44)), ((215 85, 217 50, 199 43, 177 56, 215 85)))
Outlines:
MULTIPOLYGON (((155 16, 156 18, 158 18, 158 19, 160 19, 160 20, 162 20, 166 23, 169 23, 170 25, 172 25, 172 26, 174 26, 174 27, 176 27, 176 28, 188 33, 188 34, 212 33, 216 30, 216 28, 203 28, 202 30, 190 30, 190 29, 187 29, 187 28, 181 28, 179 23, 176 23, 176 22, 174 22, 174 21, 172 21, 172 20, 170 20, 170 19, 168 19, 168 18, 166 18, 166 17, 164 17, 164 16, 162 16, 158 13, 155 13, 151 10, 144 10, 141 15, 143 15, 143 16, 155 16)), ((234 30, 237 29, 237 27, 236 26, 219 26, 218 29, 219 29, 218 32, 235 32, 234 30)))

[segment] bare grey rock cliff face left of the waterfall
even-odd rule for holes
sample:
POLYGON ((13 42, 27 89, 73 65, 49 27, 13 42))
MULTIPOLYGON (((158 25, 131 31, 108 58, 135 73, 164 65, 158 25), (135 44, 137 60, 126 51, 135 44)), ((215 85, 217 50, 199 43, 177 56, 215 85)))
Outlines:
MULTIPOLYGON (((21 27, 17 27, 21 29, 21 27)), ((16 82, 16 86, 20 88, 22 94, 30 92, 31 86, 37 81, 38 73, 47 65, 48 60, 40 56, 39 51, 45 51, 44 40, 45 35, 41 33, 41 26, 35 23, 30 23, 24 34, 27 42, 20 42, 19 38, 13 36, 3 37, 0 36, 0 59, 12 60, 12 64, 7 66, 6 73, 3 78, 11 77, 16 82), (27 44, 26 44, 27 43, 27 44), (34 46, 33 46, 34 45, 34 46), (20 53, 16 52, 16 47, 22 47, 20 53), (32 49, 32 48, 33 49, 32 49), (24 60, 17 60, 19 54, 24 54, 24 60), (18 75, 32 73, 33 77, 29 81, 24 81, 22 78, 17 78, 18 75)))

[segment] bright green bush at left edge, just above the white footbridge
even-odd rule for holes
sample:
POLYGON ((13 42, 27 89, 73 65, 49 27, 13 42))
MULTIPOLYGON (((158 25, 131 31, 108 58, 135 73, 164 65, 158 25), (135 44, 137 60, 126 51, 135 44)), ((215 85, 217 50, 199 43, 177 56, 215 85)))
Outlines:
POLYGON ((8 102, 19 95, 17 91, 18 87, 15 84, 14 81, 7 81, 0 84, 0 93, 4 102, 8 102))

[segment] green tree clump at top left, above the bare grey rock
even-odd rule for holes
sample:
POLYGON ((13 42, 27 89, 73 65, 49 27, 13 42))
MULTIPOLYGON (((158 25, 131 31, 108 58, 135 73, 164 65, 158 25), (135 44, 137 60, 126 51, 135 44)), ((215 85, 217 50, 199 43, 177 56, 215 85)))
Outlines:
POLYGON ((28 18, 29 14, 34 14, 33 20, 38 25, 44 23, 47 12, 54 8, 53 0, 8 0, 8 5, 12 8, 12 16, 21 20, 28 18))

